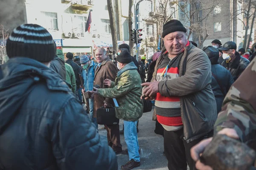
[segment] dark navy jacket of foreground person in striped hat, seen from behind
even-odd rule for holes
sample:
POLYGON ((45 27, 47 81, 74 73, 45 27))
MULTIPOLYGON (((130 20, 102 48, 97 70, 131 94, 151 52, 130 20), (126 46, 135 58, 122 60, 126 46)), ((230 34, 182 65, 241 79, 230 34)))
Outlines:
POLYGON ((15 57, 0 75, 0 170, 117 170, 115 153, 58 74, 15 57))

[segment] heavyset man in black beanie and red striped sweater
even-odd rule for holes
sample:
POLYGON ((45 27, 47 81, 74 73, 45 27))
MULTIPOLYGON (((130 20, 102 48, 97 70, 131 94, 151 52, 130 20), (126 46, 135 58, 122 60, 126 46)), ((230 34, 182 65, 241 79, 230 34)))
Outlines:
POLYGON ((145 99, 155 99, 158 122, 164 128, 164 152, 169 170, 195 170, 190 149, 212 136, 217 107, 210 86, 211 63, 186 39, 178 20, 163 26, 165 48, 157 59, 151 82, 142 85, 145 99))

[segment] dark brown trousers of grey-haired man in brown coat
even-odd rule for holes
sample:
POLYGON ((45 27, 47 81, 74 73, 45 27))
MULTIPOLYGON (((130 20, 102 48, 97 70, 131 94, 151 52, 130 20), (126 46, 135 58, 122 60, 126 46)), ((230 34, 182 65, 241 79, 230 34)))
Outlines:
POLYGON ((108 145, 112 147, 115 152, 122 151, 122 144, 120 142, 119 124, 104 125, 107 130, 108 145))

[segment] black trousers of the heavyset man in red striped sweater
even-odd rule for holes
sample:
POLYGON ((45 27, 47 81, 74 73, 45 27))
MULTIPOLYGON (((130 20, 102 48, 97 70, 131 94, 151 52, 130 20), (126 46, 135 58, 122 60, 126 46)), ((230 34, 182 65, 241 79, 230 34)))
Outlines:
POLYGON ((190 143, 187 143, 183 137, 183 128, 176 131, 167 131, 164 129, 164 152, 168 160, 169 170, 187 170, 187 164, 190 170, 196 170, 195 161, 190 156, 190 149, 201 140, 211 137, 213 131, 190 143))

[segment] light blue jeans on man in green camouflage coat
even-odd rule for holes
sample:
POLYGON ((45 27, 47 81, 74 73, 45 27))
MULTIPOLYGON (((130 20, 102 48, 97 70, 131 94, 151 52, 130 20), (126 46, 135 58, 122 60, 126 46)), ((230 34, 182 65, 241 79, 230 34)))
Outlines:
POLYGON ((125 143, 127 144, 127 149, 129 153, 129 160, 134 159, 134 161, 140 161, 139 154, 139 143, 137 135, 137 120, 136 121, 125 121, 124 120, 124 136, 125 143))

